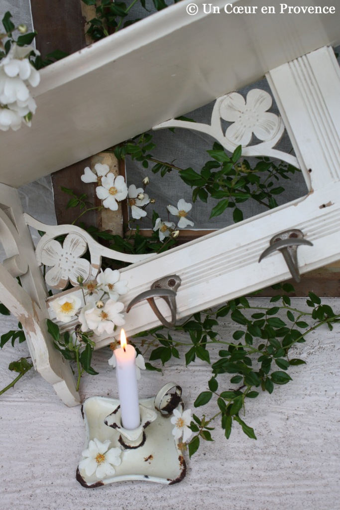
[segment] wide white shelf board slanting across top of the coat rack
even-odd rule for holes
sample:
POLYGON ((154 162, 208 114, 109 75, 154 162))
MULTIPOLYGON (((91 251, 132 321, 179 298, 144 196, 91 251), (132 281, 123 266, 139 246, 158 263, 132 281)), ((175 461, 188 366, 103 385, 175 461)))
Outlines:
MULTIPOLYGON (((253 83, 321 46, 340 43, 333 14, 226 13, 231 4, 183 0, 41 71, 32 126, 0 132, 0 182, 20 187, 169 118, 253 83), (213 7, 220 10, 213 13, 213 7)), ((233 8, 252 2, 236 0, 233 8)), ((327 6, 327 0, 304 0, 327 6)), ((215 9, 216 11, 216 9, 215 9)))

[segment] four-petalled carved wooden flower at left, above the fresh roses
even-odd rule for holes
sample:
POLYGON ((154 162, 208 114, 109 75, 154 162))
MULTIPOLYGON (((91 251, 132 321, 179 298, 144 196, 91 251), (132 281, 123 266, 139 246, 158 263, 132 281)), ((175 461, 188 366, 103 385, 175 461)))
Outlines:
POLYGON ((52 266, 46 273, 46 284, 54 289, 64 289, 68 281, 78 285, 79 276, 85 281, 91 274, 91 264, 80 258, 86 249, 86 240, 77 234, 68 234, 63 245, 55 239, 48 241, 41 253, 41 262, 52 266))

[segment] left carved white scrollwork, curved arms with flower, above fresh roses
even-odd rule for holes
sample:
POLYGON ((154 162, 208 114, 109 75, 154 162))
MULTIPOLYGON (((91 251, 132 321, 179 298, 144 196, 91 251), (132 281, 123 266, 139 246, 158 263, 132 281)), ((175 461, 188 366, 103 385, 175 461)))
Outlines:
POLYGON ((45 281, 53 289, 64 289, 68 282, 75 287, 79 276, 85 283, 95 278, 100 270, 101 257, 130 263, 150 257, 149 254, 130 255, 101 246, 75 225, 45 225, 29 214, 24 214, 24 218, 28 225, 45 232, 36 247, 36 258, 39 265, 50 267, 45 281), (66 236, 63 243, 56 240, 59 236, 66 236), (87 250, 91 262, 82 258, 87 250))

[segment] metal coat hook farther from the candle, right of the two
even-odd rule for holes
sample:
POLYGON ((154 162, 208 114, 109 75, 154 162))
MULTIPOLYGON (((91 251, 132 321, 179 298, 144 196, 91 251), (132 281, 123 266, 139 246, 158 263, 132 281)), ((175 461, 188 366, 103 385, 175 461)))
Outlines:
POLYGON ((301 278, 298 266, 297 249, 300 244, 307 244, 308 246, 313 245, 313 243, 304 239, 302 232, 296 228, 280 232, 270 240, 270 246, 261 254, 258 262, 261 262, 262 259, 267 257, 267 255, 273 251, 281 251, 295 282, 299 283, 301 278))

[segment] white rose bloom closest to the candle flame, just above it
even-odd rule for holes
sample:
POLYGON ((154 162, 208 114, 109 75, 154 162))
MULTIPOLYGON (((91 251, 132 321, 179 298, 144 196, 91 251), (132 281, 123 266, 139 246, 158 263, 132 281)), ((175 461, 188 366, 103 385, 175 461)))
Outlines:
POLYGON ((104 331, 106 331, 108 335, 111 335, 115 326, 122 326, 125 324, 123 315, 119 313, 122 312, 123 309, 123 303, 108 299, 103 308, 94 306, 84 312, 86 324, 98 335, 101 335, 104 331))

